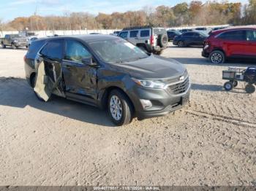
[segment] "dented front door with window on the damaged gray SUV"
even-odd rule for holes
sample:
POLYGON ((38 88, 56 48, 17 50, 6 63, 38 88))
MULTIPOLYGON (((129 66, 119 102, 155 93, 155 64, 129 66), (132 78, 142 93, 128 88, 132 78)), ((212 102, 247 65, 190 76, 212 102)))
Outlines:
POLYGON ((83 95, 85 101, 97 100, 97 68, 82 63, 90 58, 89 50, 80 42, 67 39, 62 71, 67 93, 83 95))

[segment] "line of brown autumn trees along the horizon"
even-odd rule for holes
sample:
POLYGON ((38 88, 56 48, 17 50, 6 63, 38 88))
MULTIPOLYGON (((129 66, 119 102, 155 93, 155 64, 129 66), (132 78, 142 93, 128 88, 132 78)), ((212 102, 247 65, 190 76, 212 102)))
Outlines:
POLYGON ((230 3, 227 0, 191 1, 176 4, 174 7, 143 7, 139 11, 113 12, 91 15, 89 12, 64 12, 61 16, 16 17, 3 23, 0 30, 84 30, 84 29, 121 29, 129 26, 209 26, 209 25, 252 25, 256 24, 256 0, 248 4, 230 3))

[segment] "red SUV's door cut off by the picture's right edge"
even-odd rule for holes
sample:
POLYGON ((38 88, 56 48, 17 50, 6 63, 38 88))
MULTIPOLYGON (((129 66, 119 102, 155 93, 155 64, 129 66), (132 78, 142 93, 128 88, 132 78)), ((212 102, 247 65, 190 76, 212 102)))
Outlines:
POLYGON ((256 58, 256 30, 246 31, 246 54, 248 57, 256 58))

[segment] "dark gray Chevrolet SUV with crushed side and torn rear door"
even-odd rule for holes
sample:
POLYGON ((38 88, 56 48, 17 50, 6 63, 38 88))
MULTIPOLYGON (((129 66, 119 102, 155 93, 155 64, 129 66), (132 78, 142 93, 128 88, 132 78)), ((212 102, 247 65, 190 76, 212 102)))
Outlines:
POLYGON ((189 101, 189 74, 181 63, 146 54, 116 36, 39 39, 24 61, 39 100, 54 94, 108 109, 116 125, 168 114, 189 101))

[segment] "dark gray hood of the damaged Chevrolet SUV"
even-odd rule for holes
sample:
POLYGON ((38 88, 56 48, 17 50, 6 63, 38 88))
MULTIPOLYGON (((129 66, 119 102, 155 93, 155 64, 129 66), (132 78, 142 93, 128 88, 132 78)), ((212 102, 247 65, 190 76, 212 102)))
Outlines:
POLYGON ((181 76, 186 71, 185 66, 178 61, 157 55, 138 61, 111 64, 111 66, 138 79, 168 79, 181 76))

